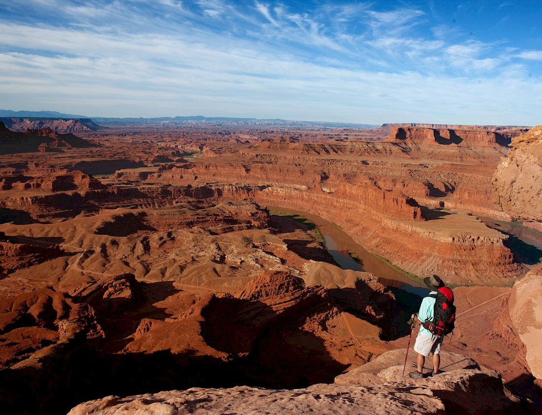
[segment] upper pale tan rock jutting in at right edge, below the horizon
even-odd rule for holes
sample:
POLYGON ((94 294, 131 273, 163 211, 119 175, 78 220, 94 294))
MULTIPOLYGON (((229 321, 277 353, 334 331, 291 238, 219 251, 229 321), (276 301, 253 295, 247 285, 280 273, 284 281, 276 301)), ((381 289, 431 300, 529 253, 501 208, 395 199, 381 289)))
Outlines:
POLYGON ((493 201, 542 232, 542 125, 514 138, 510 146, 493 175, 493 201))

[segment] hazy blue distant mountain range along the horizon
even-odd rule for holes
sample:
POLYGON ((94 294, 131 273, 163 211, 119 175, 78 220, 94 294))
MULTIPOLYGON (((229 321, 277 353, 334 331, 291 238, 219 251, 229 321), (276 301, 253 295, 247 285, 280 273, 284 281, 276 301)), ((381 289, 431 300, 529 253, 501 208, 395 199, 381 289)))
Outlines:
POLYGON ((93 123, 107 126, 114 124, 179 124, 179 125, 247 125, 247 126, 289 126, 289 127, 328 127, 328 128, 372 128, 378 127, 375 124, 354 124, 354 123, 331 123, 319 121, 296 121, 284 120, 280 118, 274 119, 257 119, 257 118, 235 118, 235 117, 204 117, 204 116, 177 116, 177 117, 152 117, 152 118, 115 118, 115 117, 87 117, 74 114, 64 114, 57 111, 12 111, 0 110, 0 118, 55 118, 55 119, 91 119, 93 123))

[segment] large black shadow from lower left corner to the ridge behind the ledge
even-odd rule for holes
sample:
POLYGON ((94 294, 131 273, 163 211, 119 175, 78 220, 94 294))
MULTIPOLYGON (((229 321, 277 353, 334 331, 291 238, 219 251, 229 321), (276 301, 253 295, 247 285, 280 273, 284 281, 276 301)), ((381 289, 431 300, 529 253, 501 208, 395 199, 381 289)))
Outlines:
MULTIPOLYGON (((168 284, 149 284, 144 303, 153 304, 168 296, 172 292, 168 284), (156 293, 157 288, 162 292, 156 293)), ((72 339, 39 362, 1 371, 0 405, 22 414, 67 413, 83 401, 108 395, 238 385, 301 388, 331 383, 347 367, 333 359, 322 339, 299 329, 300 318, 304 321, 306 310, 311 309, 308 304, 277 312, 258 301, 213 298, 207 312, 202 311, 201 336, 227 357, 202 355, 194 349, 115 353, 84 337, 72 339)), ((318 298, 313 296, 312 301, 318 298)), ((115 336, 130 335, 143 315, 169 316, 158 308, 139 310, 142 314, 118 328, 115 336)), ((115 329, 108 327, 108 333, 115 329)), ((172 331, 169 335, 199 333, 172 331)), ((118 346, 115 344, 115 349, 118 346)))

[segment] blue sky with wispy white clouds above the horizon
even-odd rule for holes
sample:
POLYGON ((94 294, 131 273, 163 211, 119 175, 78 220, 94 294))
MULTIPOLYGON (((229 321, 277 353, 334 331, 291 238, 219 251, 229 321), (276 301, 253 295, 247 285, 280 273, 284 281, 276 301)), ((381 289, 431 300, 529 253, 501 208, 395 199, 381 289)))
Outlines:
POLYGON ((0 0, 0 108, 538 125, 538 3, 0 0))

